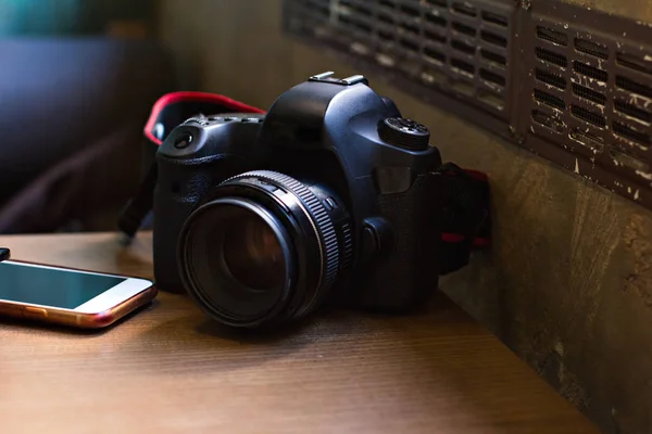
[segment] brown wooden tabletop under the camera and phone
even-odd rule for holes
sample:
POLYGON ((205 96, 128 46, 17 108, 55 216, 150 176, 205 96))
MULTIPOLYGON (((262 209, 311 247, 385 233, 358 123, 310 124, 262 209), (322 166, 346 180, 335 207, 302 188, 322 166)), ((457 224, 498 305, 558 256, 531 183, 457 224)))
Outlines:
MULTIPOLYGON (((152 277, 151 237, 0 237, 16 259, 152 277)), ((225 334, 161 293, 104 332, 0 322, 0 432, 595 432, 441 295, 427 314, 328 312, 225 334)))

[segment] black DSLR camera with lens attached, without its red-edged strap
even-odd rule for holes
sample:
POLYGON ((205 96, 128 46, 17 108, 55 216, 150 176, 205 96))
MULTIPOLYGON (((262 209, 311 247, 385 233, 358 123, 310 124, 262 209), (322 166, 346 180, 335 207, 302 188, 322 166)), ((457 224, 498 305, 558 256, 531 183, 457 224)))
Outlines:
POLYGON ((440 153, 362 76, 311 77, 266 114, 188 119, 156 162, 158 285, 221 322, 326 301, 405 311, 438 286, 440 153))

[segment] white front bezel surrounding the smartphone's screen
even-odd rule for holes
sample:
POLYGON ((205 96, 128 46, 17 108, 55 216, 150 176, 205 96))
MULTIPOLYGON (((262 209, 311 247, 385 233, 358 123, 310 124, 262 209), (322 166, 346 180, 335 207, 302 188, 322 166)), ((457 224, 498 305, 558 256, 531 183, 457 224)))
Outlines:
POLYGON ((68 312, 84 314, 84 315, 98 315, 98 314, 102 314, 108 310, 111 310, 111 309, 115 308, 116 306, 120 306, 125 301, 142 293, 143 291, 147 291, 148 289, 150 289, 153 285, 153 282, 151 282, 147 279, 133 278, 133 277, 120 276, 120 275, 113 275, 113 273, 106 273, 106 272, 78 270, 78 269, 74 269, 74 268, 23 263, 23 261, 17 261, 17 260, 5 260, 2 264, 8 264, 8 265, 11 264, 11 265, 32 267, 32 268, 47 268, 47 269, 53 269, 53 270, 59 270, 59 271, 64 271, 64 272, 105 276, 105 277, 124 279, 124 281, 122 281, 121 283, 116 284, 115 286, 110 288, 109 290, 106 290, 103 293, 95 296, 93 298, 85 302, 84 304, 77 306, 74 309, 65 308, 65 307, 61 307, 61 306, 40 305, 40 304, 34 304, 34 303, 22 303, 22 302, 15 302, 15 301, 11 301, 11 299, 0 298, 0 303, 2 303, 2 304, 11 304, 11 305, 16 305, 16 306, 28 306, 28 307, 36 307, 36 308, 43 308, 43 309, 55 309, 55 310, 60 310, 60 311, 68 311, 68 312))

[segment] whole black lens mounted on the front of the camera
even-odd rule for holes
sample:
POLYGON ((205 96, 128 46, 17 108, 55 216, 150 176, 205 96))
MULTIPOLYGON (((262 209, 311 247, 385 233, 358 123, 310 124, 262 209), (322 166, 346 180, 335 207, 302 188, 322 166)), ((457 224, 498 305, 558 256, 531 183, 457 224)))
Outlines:
POLYGON ((348 216, 334 225, 343 207, 326 207, 312 188, 251 171, 221 183, 190 215, 179 235, 179 272, 209 316, 259 327, 321 305, 350 258, 351 240, 348 216))

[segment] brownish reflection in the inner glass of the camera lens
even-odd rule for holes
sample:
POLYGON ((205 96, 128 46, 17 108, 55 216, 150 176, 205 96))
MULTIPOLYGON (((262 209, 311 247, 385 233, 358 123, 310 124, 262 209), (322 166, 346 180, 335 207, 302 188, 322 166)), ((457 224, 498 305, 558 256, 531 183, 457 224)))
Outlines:
POLYGON ((272 228, 260 217, 248 214, 225 228, 224 263, 240 284, 265 291, 284 284, 283 248, 272 228))

